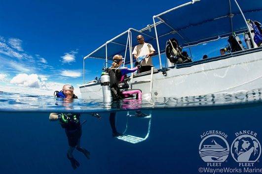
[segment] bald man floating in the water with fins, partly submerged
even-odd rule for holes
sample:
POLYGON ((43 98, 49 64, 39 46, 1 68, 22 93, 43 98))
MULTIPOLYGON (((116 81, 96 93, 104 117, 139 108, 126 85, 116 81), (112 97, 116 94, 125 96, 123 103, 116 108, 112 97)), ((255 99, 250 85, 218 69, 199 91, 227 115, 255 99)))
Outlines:
MULTIPOLYGON (((74 94, 74 87, 71 85, 64 85, 61 91, 55 91, 55 97, 64 98, 66 102, 72 102, 73 99, 76 99, 77 96, 74 94)), ((98 119, 101 119, 101 116, 97 113, 92 113, 91 116, 94 116, 98 119)), ((80 114, 78 113, 51 113, 49 116, 50 121, 59 121, 61 127, 65 129, 69 149, 67 151, 67 158, 70 160, 73 169, 75 170, 79 167, 79 162, 74 158, 73 152, 76 148, 79 152, 90 159, 90 152, 85 148, 80 146, 80 138, 82 135, 82 125, 86 122, 84 120, 80 122, 80 114)))

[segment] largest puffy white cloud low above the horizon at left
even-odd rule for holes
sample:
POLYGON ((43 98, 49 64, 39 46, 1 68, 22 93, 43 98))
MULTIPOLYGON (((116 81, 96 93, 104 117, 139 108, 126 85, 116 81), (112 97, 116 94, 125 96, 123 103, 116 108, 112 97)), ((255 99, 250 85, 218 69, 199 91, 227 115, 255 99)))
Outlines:
POLYGON ((23 87, 40 87, 40 81, 37 74, 18 74, 17 76, 13 77, 10 83, 23 87))

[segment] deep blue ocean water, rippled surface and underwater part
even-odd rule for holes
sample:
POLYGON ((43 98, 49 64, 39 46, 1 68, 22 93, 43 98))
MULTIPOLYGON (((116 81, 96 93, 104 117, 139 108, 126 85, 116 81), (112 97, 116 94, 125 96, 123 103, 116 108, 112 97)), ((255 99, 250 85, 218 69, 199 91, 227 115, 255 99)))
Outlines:
POLYGON ((261 115, 261 89, 111 104, 0 92, 0 174, 261 173, 261 115), (51 112, 80 114, 76 169, 51 112))

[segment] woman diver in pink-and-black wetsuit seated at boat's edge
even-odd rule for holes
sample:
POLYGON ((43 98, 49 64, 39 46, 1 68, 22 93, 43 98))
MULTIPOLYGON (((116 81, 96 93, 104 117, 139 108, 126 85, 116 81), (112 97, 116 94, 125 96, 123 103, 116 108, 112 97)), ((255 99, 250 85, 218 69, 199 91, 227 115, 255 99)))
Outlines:
POLYGON ((142 99, 142 91, 140 89, 128 90, 128 84, 125 82, 126 74, 135 72, 140 65, 135 68, 120 68, 123 62, 121 55, 113 57, 112 67, 109 68, 110 75, 110 90, 113 100, 133 97, 136 94, 136 99, 142 99))

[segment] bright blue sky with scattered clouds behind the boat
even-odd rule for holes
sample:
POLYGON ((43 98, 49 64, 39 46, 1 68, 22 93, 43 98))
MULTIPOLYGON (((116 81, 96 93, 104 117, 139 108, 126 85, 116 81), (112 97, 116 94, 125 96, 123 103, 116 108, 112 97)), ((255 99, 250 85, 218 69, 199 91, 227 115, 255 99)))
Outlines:
MULTIPOLYGON (((124 30, 142 29, 152 24, 153 15, 187 1, 2 0, 0 90, 52 95, 66 83, 78 88, 84 56, 124 30)), ((219 55, 217 46, 211 52, 219 55)), ((200 53, 196 49, 194 54, 200 53)), ((103 60, 88 60, 86 80, 99 76, 102 64, 103 60)))

